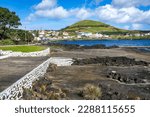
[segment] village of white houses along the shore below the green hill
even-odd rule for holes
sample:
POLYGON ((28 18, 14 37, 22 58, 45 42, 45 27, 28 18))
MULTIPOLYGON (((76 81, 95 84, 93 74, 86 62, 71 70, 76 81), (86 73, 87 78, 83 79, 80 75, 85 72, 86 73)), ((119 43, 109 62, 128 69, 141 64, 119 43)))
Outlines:
POLYGON ((150 36, 148 33, 133 33, 133 34, 119 34, 119 35, 106 35, 102 33, 92 33, 92 32, 80 32, 76 31, 74 34, 65 31, 55 31, 55 30, 38 30, 38 36, 36 36, 33 31, 30 31, 35 41, 43 40, 73 40, 73 39, 112 39, 114 37, 131 38, 131 37, 145 37, 150 36))

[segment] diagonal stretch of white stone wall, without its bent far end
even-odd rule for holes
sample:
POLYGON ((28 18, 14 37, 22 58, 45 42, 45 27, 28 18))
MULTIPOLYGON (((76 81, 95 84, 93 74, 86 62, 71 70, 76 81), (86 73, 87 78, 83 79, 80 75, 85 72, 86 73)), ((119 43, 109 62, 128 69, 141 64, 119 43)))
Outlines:
POLYGON ((37 68, 26 74, 16 83, 12 84, 6 90, 0 93, 0 100, 18 100, 22 98, 23 88, 32 88, 32 83, 38 80, 41 76, 46 73, 46 70, 51 62, 48 59, 37 68))

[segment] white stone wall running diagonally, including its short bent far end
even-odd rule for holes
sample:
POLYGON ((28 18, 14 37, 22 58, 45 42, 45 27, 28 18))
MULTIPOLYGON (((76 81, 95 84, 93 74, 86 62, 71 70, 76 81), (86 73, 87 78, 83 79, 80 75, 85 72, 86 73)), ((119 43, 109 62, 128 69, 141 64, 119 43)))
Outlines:
POLYGON ((19 100, 22 98, 23 88, 32 88, 32 83, 44 76, 50 63, 57 64, 57 66, 71 66, 73 63, 70 58, 51 57, 30 73, 22 77, 16 83, 5 89, 0 93, 0 100, 19 100))

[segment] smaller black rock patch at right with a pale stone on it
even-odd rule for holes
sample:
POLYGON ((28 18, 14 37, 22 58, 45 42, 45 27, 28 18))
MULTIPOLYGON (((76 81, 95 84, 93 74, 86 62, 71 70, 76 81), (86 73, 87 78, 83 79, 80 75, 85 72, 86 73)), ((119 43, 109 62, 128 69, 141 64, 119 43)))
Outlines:
POLYGON ((145 66, 107 67, 105 76, 125 84, 139 84, 150 82, 150 72, 145 66))

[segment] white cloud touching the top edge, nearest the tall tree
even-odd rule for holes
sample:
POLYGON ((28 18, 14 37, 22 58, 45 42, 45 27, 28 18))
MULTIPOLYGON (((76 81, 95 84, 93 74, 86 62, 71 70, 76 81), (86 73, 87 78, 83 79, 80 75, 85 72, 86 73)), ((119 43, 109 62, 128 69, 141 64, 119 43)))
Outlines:
POLYGON ((42 0, 39 4, 34 6, 34 9, 35 12, 27 17, 28 21, 32 21, 38 17, 61 19, 69 15, 66 9, 62 6, 57 6, 57 0, 42 0))

